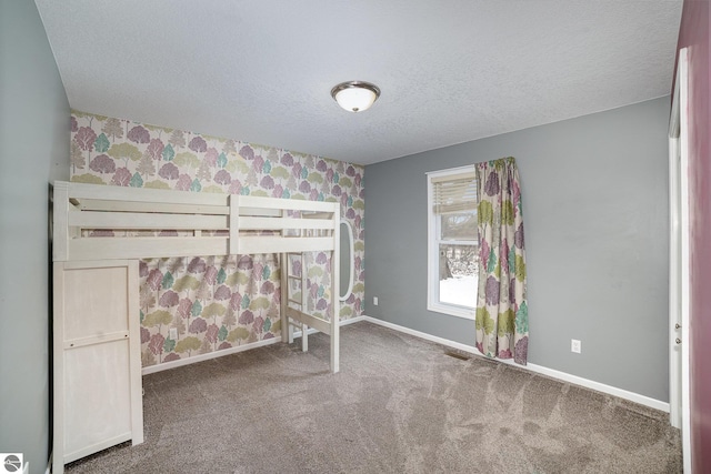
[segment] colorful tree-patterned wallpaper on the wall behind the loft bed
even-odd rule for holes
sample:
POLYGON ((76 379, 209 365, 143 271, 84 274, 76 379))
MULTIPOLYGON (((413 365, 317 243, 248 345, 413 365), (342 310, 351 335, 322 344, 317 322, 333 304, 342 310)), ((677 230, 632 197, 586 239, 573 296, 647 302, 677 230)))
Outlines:
MULTIPOLYGON (((362 167, 79 111, 71 115, 70 155, 76 182, 340 202, 341 219, 353 228, 356 275, 340 319, 362 314, 362 167)), ((327 319, 330 256, 312 252, 304 264, 307 311, 327 319)), ((143 366, 280 335, 280 271, 273 254, 141 261, 143 366), (177 337, 170 337, 171 329, 177 337)))

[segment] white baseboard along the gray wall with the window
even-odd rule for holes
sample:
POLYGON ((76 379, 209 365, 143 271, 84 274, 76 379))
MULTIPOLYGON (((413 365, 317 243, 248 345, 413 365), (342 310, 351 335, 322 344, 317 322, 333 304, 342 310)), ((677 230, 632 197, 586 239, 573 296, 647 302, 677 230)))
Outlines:
MULTIPOLYGON (((479 352, 479 350, 472 345, 467 345, 467 344, 462 344, 459 342, 454 342, 454 341, 450 341, 448 339, 444 337, 439 337, 432 334, 428 334, 428 333, 423 333, 421 331, 415 331, 415 330, 411 330, 410 327, 404 327, 398 324, 393 324, 393 323, 389 323, 387 321, 382 321, 375 317, 371 317, 371 316, 359 316, 360 320, 359 321, 368 321, 371 322, 373 324, 379 324, 381 326, 384 327, 390 327, 391 330, 395 330, 395 331, 400 331, 402 333, 405 334, 410 334, 413 335, 415 337, 421 337, 428 341, 432 341, 435 342, 438 344, 442 344, 452 349, 458 349, 460 351, 464 351, 468 353, 471 353, 474 356, 478 357, 483 357, 483 355, 481 354, 481 352, 479 352)), ((650 406, 652 409, 655 410, 660 410, 662 412, 667 412, 669 413, 669 403, 668 402, 662 402, 655 399, 651 399, 649 396, 645 395, 640 395, 639 393, 634 393, 634 392, 630 392, 627 390, 622 390, 622 389, 618 389, 615 386, 611 386, 611 385, 605 385, 603 383, 600 382, 595 382, 595 381, 591 381, 588 379, 583 379, 583 377, 579 377, 577 375, 571 375, 569 373, 565 372, 561 372, 561 371, 557 371, 554 369, 548 369, 544 367, 542 365, 537 365, 537 364, 531 364, 529 363, 528 365, 519 365, 517 363, 514 363, 511 360, 499 360, 495 359, 497 362, 502 363, 502 364, 508 364, 508 365, 513 365, 515 367, 519 369, 523 369, 523 370, 528 370, 531 372, 535 372, 542 375, 548 375, 550 377, 553 379, 558 379, 562 382, 567 382, 567 383, 571 383, 574 385, 580 385, 580 386, 584 386, 587 389, 592 389, 595 390, 598 392, 602 392, 602 393, 607 393, 609 395, 613 395, 613 396, 619 396, 620 399, 624 399, 624 400, 629 400, 631 402, 634 403, 639 403, 641 405, 645 405, 645 406, 650 406)))

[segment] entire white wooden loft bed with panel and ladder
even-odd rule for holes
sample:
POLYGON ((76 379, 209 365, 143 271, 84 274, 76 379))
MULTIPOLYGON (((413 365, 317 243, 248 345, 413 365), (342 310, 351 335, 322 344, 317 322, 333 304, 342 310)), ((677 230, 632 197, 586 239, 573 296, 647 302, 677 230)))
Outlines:
POLYGON ((54 473, 143 442, 139 259, 280 254, 282 342, 328 334, 339 371, 339 203, 64 181, 52 201, 54 473), (314 251, 332 252, 330 321, 307 313, 306 269, 291 274, 314 251))

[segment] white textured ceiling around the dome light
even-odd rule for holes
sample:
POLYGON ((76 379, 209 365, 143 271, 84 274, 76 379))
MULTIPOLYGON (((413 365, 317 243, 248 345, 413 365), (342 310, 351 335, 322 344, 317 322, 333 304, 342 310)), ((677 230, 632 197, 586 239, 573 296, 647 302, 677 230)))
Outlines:
POLYGON ((682 2, 37 4, 73 109, 368 164, 670 93, 682 2))

